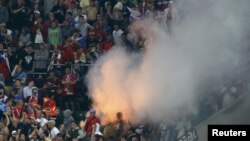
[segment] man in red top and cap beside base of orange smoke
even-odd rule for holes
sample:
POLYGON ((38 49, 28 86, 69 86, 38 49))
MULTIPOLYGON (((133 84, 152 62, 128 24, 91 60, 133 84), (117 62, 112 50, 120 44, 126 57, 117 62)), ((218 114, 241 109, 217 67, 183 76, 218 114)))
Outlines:
POLYGON ((93 127, 96 123, 100 124, 100 119, 98 119, 96 117, 96 111, 95 109, 91 109, 89 111, 90 116, 86 119, 86 123, 85 123, 85 131, 87 133, 88 137, 91 137, 92 131, 93 131, 93 127))

